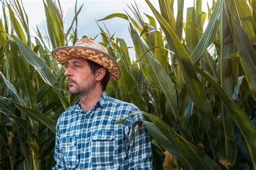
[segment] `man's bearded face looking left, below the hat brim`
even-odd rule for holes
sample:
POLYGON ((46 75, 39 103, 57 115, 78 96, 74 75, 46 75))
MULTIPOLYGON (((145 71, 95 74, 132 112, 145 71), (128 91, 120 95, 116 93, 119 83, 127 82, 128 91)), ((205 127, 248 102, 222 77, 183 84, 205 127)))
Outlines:
POLYGON ((85 59, 71 58, 66 65, 65 76, 68 77, 71 95, 90 94, 96 88, 96 76, 85 59))

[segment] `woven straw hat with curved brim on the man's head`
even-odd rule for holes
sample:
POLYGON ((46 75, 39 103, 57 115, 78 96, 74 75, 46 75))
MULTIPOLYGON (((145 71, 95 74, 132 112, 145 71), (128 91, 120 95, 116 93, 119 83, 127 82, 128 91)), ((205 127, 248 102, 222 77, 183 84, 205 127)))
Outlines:
POLYGON ((89 38, 78 40, 74 46, 53 49, 51 54, 64 66, 70 58, 84 58, 94 61, 109 71, 109 81, 118 80, 121 74, 117 61, 108 54, 107 49, 89 38))

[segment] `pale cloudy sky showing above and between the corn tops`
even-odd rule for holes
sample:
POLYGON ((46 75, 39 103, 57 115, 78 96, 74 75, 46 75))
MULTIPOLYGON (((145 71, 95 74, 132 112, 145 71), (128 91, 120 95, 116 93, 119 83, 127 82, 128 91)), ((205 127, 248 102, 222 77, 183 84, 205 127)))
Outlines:
MULTIPOLYGON (((0 0, 0 2, 3 0, 0 0)), ((177 16, 177 1, 174 0, 174 16, 177 16)), ((30 32, 32 36, 36 36, 36 25, 41 32, 45 32, 46 19, 44 13, 43 0, 23 0, 24 9, 29 16, 30 32)), ((144 0, 135 0, 140 12, 147 13, 153 16, 149 6, 147 6, 144 0)), ((158 1, 150 1, 156 9, 159 9, 158 1)), ((211 6, 212 0, 202 1, 202 10, 207 13, 207 2, 211 6)), ((184 0, 184 17, 186 16, 186 9, 193 6, 193 0, 184 0)), ((72 19, 75 16, 75 0, 60 0, 60 4, 63 8, 64 15, 64 29, 68 30, 71 25, 72 19)), ((84 35, 90 38, 94 38, 100 30, 97 26, 96 20, 102 19, 111 13, 125 13, 125 11, 131 14, 131 10, 127 5, 134 5, 134 0, 79 0, 77 2, 77 9, 83 4, 82 11, 78 16, 78 38, 82 38, 84 35)), ((2 6, 2 5, 1 5, 2 6)), ((3 16, 2 7, 0 7, 0 18, 3 16)), ((145 15, 143 15, 145 17, 145 15)), ((146 17, 145 17, 146 19, 146 17)), ((114 33, 115 37, 123 38, 128 46, 132 46, 132 40, 128 30, 129 23, 122 18, 112 18, 98 22, 101 27, 106 25, 111 34, 114 33)), ((96 39, 100 41, 100 36, 96 39)), ((132 50, 132 49, 131 49, 132 50)), ((134 55, 134 52, 132 52, 134 55)), ((132 57, 133 58, 133 57, 132 57)))

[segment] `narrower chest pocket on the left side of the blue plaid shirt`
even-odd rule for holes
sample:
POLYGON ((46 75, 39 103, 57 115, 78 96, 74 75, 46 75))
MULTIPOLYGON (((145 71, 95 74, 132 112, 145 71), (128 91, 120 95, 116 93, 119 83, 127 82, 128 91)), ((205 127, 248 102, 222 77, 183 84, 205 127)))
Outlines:
POLYGON ((62 149, 67 168, 74 168, 78 163, 76 144, 77 137, 66 137, 60 139, 60 148, 62 149))

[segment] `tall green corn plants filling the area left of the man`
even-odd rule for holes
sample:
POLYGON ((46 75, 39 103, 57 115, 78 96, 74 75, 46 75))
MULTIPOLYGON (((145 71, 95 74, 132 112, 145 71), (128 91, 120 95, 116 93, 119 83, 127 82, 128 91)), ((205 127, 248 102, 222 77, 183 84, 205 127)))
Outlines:
POLYGON ((44 1, 49 39, 45 40, 37 28, 35 44, 23 4, 2 2, 2 9, 0 166, 1 169, 50 169, 55 163, 56 120, 76 99, 66 97, 64 68, 51 58, 50 48, 76 41, 73 23, 81 8, 76 11, 70 29, 64 32, 60 7, 44 1))

